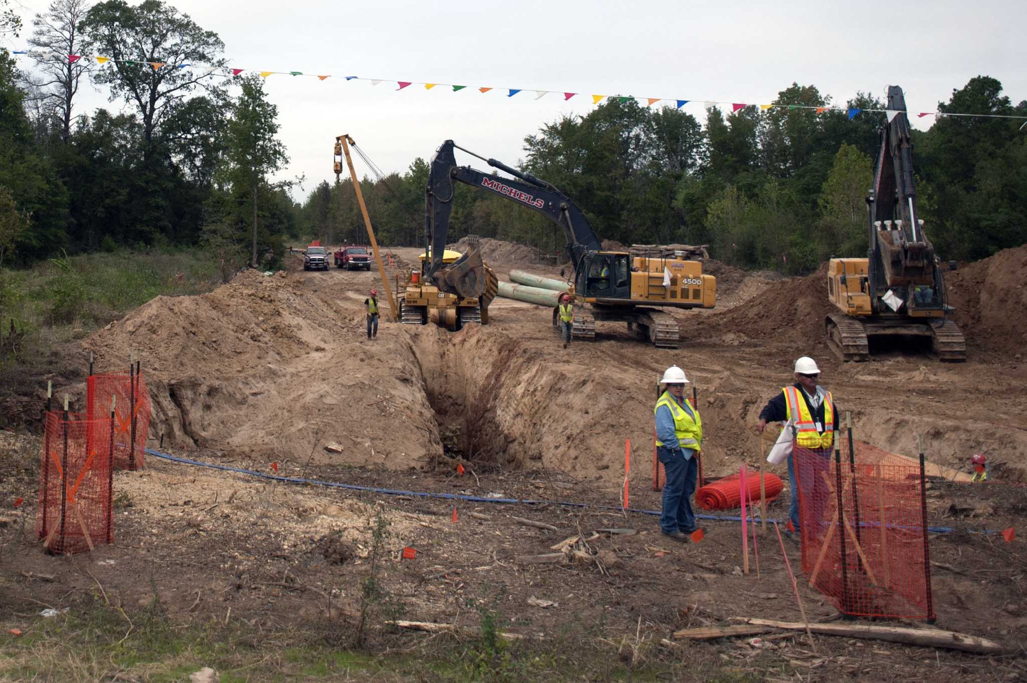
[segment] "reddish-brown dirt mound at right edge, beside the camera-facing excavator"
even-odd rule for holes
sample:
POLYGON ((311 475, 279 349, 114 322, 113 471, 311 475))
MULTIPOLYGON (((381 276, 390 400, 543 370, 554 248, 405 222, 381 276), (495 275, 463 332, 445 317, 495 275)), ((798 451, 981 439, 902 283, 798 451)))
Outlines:
POLYGON ((1007 249, 959 270, 945 273, 956 324, 967 344, 1009 349, 1027 325, 1027 244, 1007 249))

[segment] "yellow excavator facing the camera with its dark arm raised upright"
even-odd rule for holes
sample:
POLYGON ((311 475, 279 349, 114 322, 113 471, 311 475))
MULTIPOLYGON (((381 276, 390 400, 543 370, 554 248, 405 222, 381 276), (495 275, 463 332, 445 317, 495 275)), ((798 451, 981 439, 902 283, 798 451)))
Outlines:
POLYGON ((939 259, 916 214, 901 87, 888 86, 887 108, 897 113, 881 128, 874 185, 867 195, 867 258, 828 264, 828 299, 839 309, 827 315, 828 346, 843 361, 867 361, 870 337, 929 337, 940 359, 965 361, 966 343, 953 320, 939 259))

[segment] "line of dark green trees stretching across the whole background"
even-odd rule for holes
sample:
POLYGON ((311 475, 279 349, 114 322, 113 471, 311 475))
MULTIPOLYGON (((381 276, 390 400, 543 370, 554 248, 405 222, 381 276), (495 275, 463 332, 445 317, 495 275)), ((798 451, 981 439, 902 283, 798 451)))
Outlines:
MULTIPOLYGON (((17 25, 6 0, 0 8, 0 35, 25 32, 34 50, 27 73, 0 50, 0 265, 60 249, 202 244, 227 276, 277 265, 299 235, 366 240, 348 177, 321 182, 300 203, 293 183, 269 180, 288 154, 262 79, 145 64, 221 67, 216 33, 160 0, 53 0, 31 27, 17 25), (80 111, 86 80, 123 106, 80 111)), ((702 122, 608 98, 529 132, 518 165, 572 198, 601 239, 707 243, 728 263, 790 273, 865 255, 864 199, 884 114, 816 113, 832 99, 797 83, 774 103, 711 109, 702 122)), ((845 105, 884 109, 863 92, 845 105)), ((1027 241, 1027 131, 1023 120, 998 118, 1027 115, 1027 102, 1014 105, 1001 83, 978 76, 938 109, 992 117, 941 116, 913 134, 918 215, 937 253, 978 259, 1027 241)), ((403 173, 372 172, 360 184, 378 239, 423 244, 424 158, 403 173)), ((557 226, 496 194, 458 187, 453 203, 452 240, 564 244, 557 226)))

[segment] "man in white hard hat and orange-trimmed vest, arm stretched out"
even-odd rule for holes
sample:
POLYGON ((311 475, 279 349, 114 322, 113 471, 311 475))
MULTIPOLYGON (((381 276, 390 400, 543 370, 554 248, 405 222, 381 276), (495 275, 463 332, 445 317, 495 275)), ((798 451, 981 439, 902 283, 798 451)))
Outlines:
POLYGON ((800 484, 795 476, 794 450, 796 447, 803 448, 821 456, 810 461, 810 467, 803 469, 801 482, 802 495, 810 504, 810 519, 817 519, 821 510, 825 509, 828 494, 820 471, 828 471, 834 434, 838 430, 838 409, 831 392, 820 386, 820 376, 821 369, 816 367, 816 362, 808 355, 798 358, 795 362, 795 384, 784 387, 781 393, 767 402, 756 425, 757 431, 763 433, 767 422, 786 423, 794 418, 793 454, 788 456, 788 483, 792 495, 788 520, 791 528, 786 528, 785 535, 795 542, 799 541, 796 532, 800 529, 800 484))

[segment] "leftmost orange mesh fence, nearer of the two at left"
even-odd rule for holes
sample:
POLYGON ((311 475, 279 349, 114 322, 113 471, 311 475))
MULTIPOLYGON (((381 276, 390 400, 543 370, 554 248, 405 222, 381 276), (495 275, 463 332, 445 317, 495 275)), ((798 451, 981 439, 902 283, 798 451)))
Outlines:
POLYGON ((111 453, 116 424, 74 413, 46 414, 36 537, 51 553, 114 542, 111 453))

